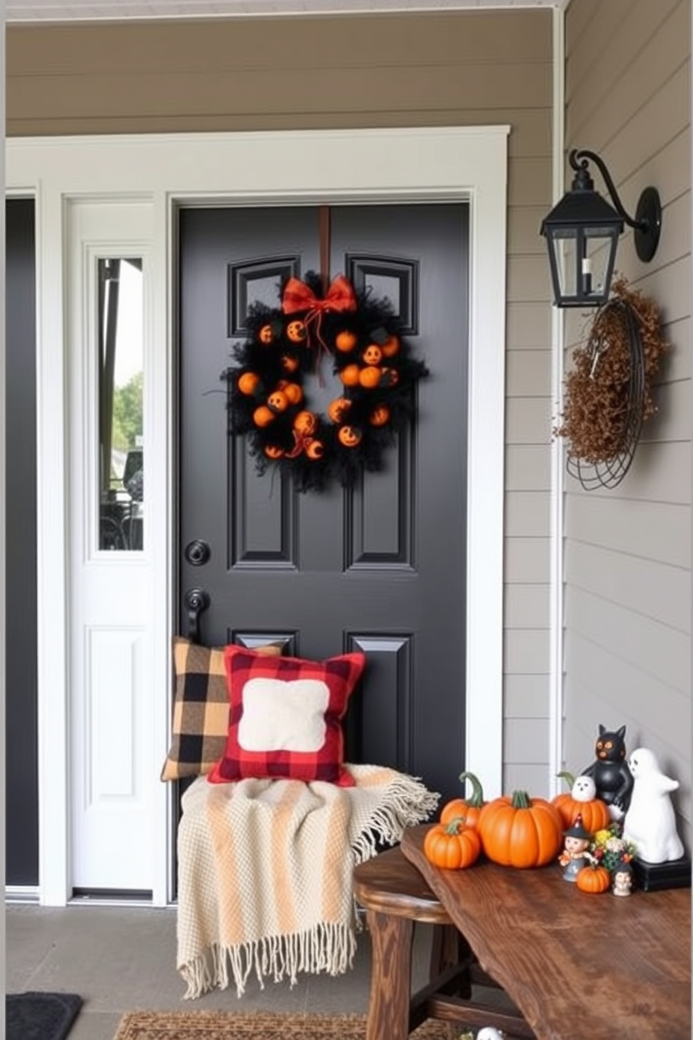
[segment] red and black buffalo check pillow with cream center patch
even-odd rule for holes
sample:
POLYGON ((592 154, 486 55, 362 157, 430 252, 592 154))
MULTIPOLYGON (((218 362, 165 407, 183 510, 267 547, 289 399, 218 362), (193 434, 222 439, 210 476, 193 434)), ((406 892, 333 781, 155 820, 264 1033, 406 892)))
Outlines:
POLYGON ((303 660, 226 647, 229 733, 210 783, 268 777, 352 786, 342 719, 365 664, 363 653, 303 660))

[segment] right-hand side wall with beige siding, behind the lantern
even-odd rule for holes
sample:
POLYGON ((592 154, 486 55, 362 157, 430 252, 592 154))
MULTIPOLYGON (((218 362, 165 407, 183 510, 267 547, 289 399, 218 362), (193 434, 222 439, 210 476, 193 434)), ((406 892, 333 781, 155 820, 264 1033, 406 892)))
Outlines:
MULTIPOLYGON (((689 0, 572 0, 566 18, 566 150, 602 155, 634 213, 660 191, 649 264, 631 234, 617 266, 661 309, 670 343, 659 414, 618 488, 565 502, 565 757, 592 760, 596 725, 627 725, 681 782, 691 844, 691 25, 689 0)), ((595 186, 604 190, 598 172, 595 186)), ((569 326, 574 342, 579 327, 569 326)))

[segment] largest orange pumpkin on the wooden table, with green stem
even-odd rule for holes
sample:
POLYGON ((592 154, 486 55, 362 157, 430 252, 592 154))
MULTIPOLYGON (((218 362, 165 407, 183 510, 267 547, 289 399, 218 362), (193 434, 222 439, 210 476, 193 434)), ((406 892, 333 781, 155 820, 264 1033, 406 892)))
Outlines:
POLYGON ((556 806, 525 790, 487 802, 477 830, 488 858, 503 866, 543 866, 563 844, 563 821, 556 806))

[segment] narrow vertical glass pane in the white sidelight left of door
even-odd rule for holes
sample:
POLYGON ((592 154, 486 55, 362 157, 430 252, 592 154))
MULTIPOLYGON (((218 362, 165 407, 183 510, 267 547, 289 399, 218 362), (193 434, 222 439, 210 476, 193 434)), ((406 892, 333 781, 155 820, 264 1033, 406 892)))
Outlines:
POLYGON ((142 261, 99 260, 99 548, 142 548, 142 261))

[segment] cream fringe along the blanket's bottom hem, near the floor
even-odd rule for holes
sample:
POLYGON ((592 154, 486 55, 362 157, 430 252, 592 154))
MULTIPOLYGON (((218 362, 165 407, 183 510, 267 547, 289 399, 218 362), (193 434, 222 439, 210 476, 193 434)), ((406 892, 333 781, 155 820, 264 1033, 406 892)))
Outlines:
POLYGON ((270 977, 274 982, 288 979, 295 986, 300 971, 344 974, 352 967, 355 952, 351 928, 324 921, 305 932, 268 936, 238 946, 214 943, 206 954, 180 967, 187 984, 184 999, 195 999, 217 987, 228 989, 232 980, 236 995, 241 997, 254 969, 261 989, 270 977))

